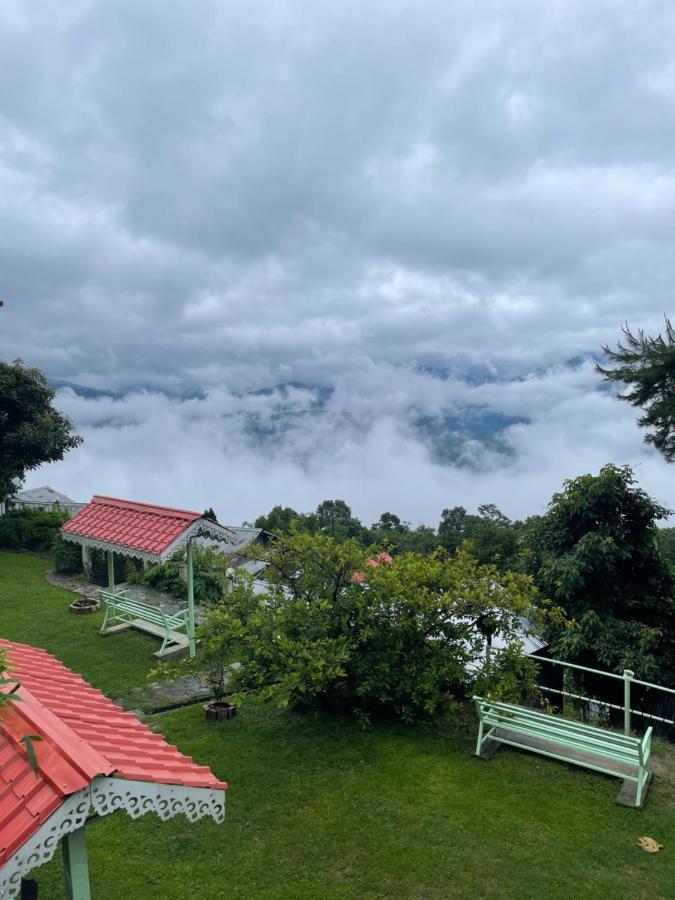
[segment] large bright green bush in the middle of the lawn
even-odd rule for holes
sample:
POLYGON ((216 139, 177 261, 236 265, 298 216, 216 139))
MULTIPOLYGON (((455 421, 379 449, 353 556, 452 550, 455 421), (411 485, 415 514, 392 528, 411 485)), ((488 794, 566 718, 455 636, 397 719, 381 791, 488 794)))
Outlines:
MULTIPOLYGON (((474 690, 485 649, 479 623, 517 644, 531 580, 460 551, 365 552, 355 541, 292 532, 266 552, 269 593, 242 576, 209 614, 209 653, 237 659, 233 690, 282 707, 329 708, 367 720, 450 712, 474 690)), ((517 648, 495 655, 481 690, 517 699, 533 688, 517 648)))

